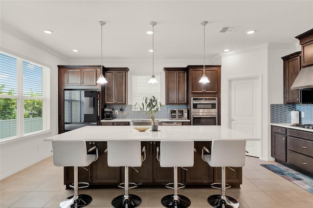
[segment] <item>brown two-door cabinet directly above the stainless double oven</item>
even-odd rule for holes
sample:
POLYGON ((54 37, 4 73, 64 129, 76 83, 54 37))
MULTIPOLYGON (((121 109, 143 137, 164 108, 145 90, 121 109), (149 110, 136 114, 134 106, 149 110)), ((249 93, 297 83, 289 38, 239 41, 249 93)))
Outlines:
POLYGON ((221 65, 205 65, 205 75, 209 83, 199 83, 203 75, 203 65, 187 66, 190 75, 190 93, 220 93, 221 65))

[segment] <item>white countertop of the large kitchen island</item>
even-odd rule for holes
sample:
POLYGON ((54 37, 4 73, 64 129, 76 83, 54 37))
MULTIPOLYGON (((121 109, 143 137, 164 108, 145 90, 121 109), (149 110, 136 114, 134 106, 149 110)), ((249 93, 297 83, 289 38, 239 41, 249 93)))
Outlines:
POLYGON ((139 132, 134 126, 124 125, 89 125, 77 128, 65 133, 46 138, 44 141, 54 139, 81 139, 89 142, 101 142, 108 140, 133 139, 140 141, 161 141, 161 140, 193 140, 212 141, 213 139, 245 139, 246 141, 259 141, 250 135, 220 126, 220 125, 160 125, 160 131, 148 129, 139 132))

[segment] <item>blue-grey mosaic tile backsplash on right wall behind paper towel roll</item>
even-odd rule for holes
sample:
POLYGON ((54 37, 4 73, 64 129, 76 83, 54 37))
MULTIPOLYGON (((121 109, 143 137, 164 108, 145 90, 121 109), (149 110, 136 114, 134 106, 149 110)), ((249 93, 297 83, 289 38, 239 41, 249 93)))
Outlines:
POLYGON ((290 111, 293 109, 300 111, 301 124, 313 124, 313 104, 271 104, 270 123, 291 123, 290 111))

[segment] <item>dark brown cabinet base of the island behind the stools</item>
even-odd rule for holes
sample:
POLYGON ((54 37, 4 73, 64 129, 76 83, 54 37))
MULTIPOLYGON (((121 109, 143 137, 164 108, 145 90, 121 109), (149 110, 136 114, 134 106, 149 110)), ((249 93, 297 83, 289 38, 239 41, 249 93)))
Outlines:
MULTIPOLYGON (((98 147, 99 158, 86 169, 79 167, 79 182, 88 182, 91 187, 114 187, 124 182, 124 167, 109 167, 107 153, 107 142, 96 142, 90 145, 98 147)), ((141 147, 146 147, 146 160, 140 167, 129 167, 129 181, 142 187, 164 187, 167 183, 174 181, 173 167, 161 167, 156 159, 156 148, 160 142, 141 142, 141 147)), ((219 182, 221 168, 211 167, 201 158, 202 146, 210 148, 210 142, 195 142, 195 159, 193 167, 178 168, 178 181, 187 187, 210 187, 211 183, 219 182)), ((91 146, 90 146, 91 147, 91 146)), ((90 148, 89 147, 89 148, 90 148)), ((93 154, 93 152, 92 152, 93 154)), ((228 169, 228 168, 227 168, 228 169)), ((233 168, 236 171, 226 170, 226 183, 232 187, 240 187, 242 184, 242 168, 233 168)), ((65 167, 64 184, 73 183, 73 167, 65 167)))

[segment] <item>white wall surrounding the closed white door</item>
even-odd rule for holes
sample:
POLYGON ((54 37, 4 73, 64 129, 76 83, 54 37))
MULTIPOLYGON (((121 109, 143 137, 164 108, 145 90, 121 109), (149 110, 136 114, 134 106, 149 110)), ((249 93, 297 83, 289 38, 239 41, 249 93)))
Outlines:
POLYGON ((295 44, 263 44, 222 56, 221 125, 228 126, 227 78, 262 76, 262 151, 270 157, 270 104, 283 103, 283 62, 281 57, 295 51, 295 44))

